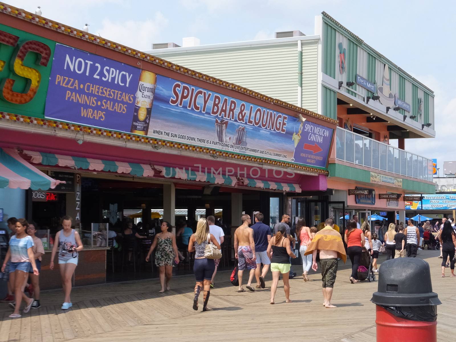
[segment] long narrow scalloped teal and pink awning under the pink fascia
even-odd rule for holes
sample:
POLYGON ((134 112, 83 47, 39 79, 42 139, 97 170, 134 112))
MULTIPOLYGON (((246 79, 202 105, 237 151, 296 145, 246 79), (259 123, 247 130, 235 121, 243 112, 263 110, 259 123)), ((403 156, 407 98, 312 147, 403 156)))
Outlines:
POLYGON ((160 166, 155 164, 138 164, 123 161, 110 161, 69 155, 57 155, 29 150, 26 150, 23 153, 31 157, 32 163, 46 166, 68 167, 75 170, 80 169, 89 171, 115 172, 119 174, 129 174, 131 176, 155 179, 175 178, 183 181, 206 182, 228 187, 246 186, 287 192, 301 192, 301 187, 299 184, 264 181, 246 177, 235 177, 231 175, 223 175, 221 173, 212 174, 211 172, 195 171, 188 167, 179 168, 160 166))

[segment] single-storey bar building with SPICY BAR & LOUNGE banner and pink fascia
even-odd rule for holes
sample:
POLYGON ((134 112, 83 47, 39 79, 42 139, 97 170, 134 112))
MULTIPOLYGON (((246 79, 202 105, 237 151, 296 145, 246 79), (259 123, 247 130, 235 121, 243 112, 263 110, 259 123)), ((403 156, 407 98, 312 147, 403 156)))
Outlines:
MULTIPOLYGON (((287 194, 314 207, 326 194, 335 119, 13 6, 0 18, 0 225, 36 221, 46 266, 72 216, 85 246, 75 285, 132 269, 108 241, 125 216, 146 236, 135 272, 158 218, 175 229, 202 211, 224 226, 229 264, 243 213, 272 225, 287 194)), ((41 288, 60 286, 42 274, 41 288)))

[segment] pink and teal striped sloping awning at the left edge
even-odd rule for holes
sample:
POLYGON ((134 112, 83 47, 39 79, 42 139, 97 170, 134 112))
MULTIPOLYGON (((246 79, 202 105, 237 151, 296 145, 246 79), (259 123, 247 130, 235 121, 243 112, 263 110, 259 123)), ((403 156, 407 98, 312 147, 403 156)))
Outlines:
POLYGON ((48 190, 64 181, 55 180, 25 161, 15 149, 0 148, 0 188, 48 190))

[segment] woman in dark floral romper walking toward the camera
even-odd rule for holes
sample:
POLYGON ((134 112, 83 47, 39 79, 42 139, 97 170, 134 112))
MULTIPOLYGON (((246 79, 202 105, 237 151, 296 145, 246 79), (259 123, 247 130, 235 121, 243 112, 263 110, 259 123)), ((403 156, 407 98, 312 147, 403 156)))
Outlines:
POLYGON ((164 221, 161 223, 160 229, 161 233, 155 235, 154 242, 150 246, 145 261, 149 261, 150 254, 157 247, 155 251, 155 265, 158 266, 160 274, 161 290, 159 293, 163 293, 170 290, 169 284, 172 276, 172 264, 173 261, 179 264, 179 256, 177 254, 176 236, 171 233, 171 224, 164 221))

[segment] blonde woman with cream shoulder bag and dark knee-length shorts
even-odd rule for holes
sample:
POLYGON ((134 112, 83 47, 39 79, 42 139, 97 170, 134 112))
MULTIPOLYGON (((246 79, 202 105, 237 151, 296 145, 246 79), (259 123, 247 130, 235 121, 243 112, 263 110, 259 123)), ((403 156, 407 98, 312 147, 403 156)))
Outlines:
POLYGON ((197 231, 192 234, 188 240, 188 252, 195 252, 195 263, 193 264, 193 273, 195 274, 195 297, 193 298, 193 310, 198 310, 198 296, 203 289, 203 307, 202 311, 209 311, 207 302, 211 294, 212 274, 215 270, 213 259, 204 257, 204 250, 209 241, 215 244, 220 249, 220 244, 217 239, 209 233, 209 224, 206 218, 200 218, 197 223, 197 231))

